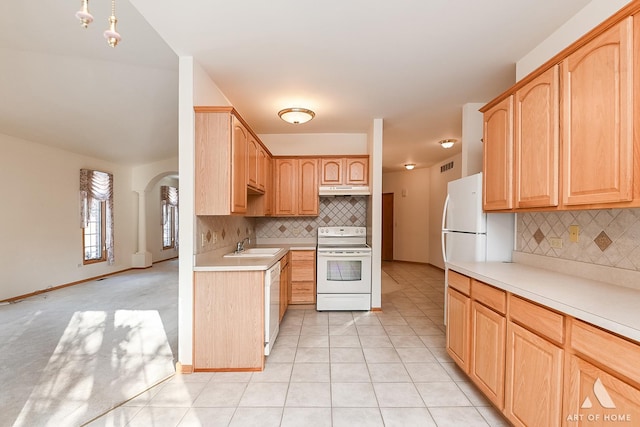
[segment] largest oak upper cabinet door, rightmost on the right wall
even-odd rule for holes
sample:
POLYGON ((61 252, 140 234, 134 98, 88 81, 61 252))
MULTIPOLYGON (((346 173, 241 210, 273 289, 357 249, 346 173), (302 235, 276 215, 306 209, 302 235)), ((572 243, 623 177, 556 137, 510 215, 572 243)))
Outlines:
POLYGON ((632 55, 629 17, 562 62, 565 205, 633 197, 632 55))

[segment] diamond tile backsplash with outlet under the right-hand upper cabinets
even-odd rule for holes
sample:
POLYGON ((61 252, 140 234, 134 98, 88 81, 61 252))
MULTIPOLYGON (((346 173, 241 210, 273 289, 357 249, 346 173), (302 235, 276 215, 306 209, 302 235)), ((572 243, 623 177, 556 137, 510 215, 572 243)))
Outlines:
POLYGON ((518 214, 517 250, 640 271, 640 208, 518 214), (580 229, 577 243, 570 225, 580 229), (552 238, 562 247, 552 247, 552 238))

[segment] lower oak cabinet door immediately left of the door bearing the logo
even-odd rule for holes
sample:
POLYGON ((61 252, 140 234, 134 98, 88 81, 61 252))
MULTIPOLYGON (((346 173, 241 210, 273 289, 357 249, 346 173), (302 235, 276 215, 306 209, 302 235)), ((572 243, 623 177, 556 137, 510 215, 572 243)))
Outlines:
POLYGON ((562 423, 563 350, 507 323, 505 415, 519 427, 562 423))

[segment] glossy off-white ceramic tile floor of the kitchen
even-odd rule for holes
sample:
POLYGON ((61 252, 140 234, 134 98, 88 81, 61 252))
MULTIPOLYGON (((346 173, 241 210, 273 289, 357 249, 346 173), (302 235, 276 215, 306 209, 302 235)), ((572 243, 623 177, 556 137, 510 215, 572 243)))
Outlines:
POLYGON ((263 372, 175 375, 90 425, 509 425, 445 351, 443 272, 383 271, 382 312, 291 307, 263 372))

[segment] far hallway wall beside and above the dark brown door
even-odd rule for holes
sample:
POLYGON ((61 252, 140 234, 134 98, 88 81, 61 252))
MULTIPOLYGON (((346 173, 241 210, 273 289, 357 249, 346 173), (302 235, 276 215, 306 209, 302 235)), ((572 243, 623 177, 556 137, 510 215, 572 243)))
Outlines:
POLYGON ((429 262, 429 169, 388 172, 382 192, 393 193, 393 259, 429 262))

